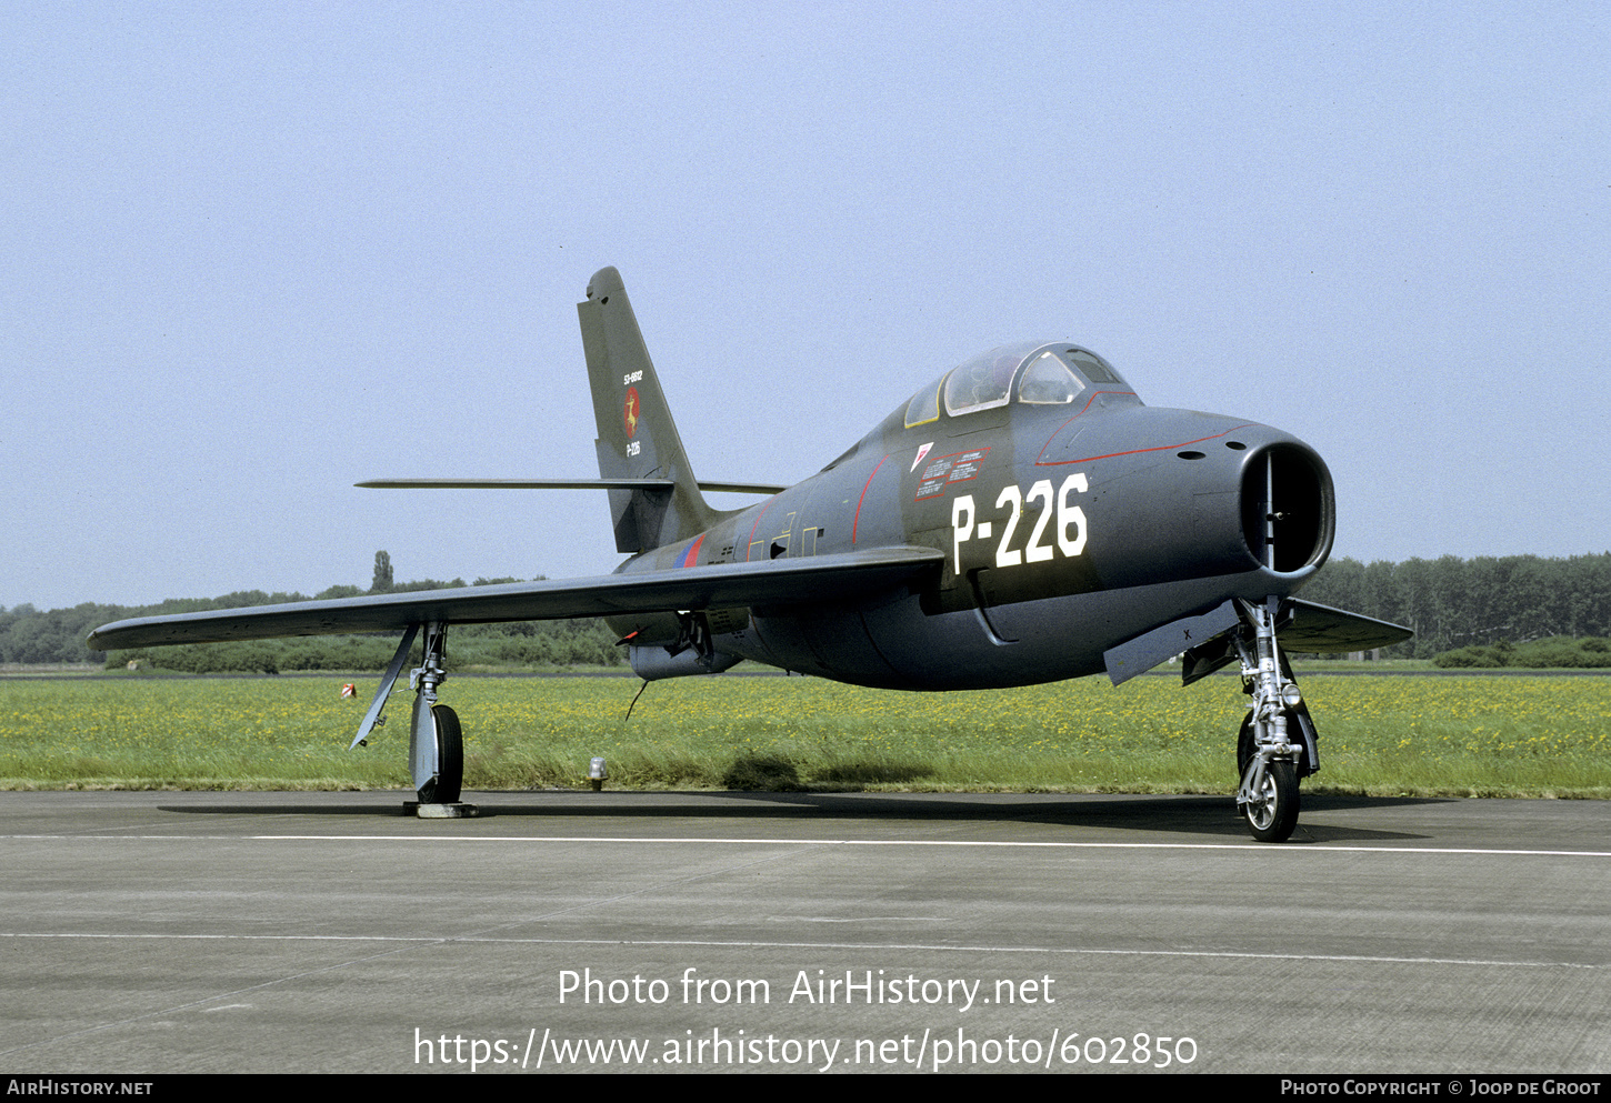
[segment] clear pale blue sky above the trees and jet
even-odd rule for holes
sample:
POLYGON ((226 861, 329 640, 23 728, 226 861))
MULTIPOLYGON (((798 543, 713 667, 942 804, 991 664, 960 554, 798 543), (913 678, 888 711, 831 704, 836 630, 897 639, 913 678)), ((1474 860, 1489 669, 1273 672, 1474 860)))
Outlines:
POLYGON ((1600 3, 5 3, 0 605, 604 573, 574 304, 704 478, 1002 341, 1310 441, 1336 556, 1611 547, 1600 3))

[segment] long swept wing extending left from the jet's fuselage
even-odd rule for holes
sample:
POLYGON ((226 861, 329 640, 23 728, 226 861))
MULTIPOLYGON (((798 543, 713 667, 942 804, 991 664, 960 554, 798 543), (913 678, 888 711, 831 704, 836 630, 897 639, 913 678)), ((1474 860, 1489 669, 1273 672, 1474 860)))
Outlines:
POLYGON ((920 573, 936 570, 944 559, 946 554, 933 547, 878 547, 810 559, 712 564, 643 575, 601 575, 300 601, 251 609, 209 609, 101 625, 90 633, 89 646, 93 651, 114 651, 277 636, 400 631, 422 623, 477 625, 632 612, 796 605, 894 589, 920 573))

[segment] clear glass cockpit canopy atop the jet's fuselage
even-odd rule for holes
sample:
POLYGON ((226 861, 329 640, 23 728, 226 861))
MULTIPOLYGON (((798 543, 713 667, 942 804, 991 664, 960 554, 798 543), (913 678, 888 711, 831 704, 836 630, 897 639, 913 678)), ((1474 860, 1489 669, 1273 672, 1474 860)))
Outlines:
POLYGON ((950 417, 1005 406, 1071 406, 1089 391, 1129 391, 1118 372, 1076 345, 1031 341, 1002 345, 954 367, 921 388, 907 404, 905 425, 939 420, 941 401, 950 417), (1013 382, 1017 380, 1017 390, 1013 382))

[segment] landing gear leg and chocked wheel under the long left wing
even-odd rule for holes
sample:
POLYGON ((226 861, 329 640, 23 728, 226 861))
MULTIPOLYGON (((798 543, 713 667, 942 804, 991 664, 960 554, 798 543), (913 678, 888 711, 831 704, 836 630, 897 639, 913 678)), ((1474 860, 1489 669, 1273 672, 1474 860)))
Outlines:
MULTIPOLYGON (((404 808, 422 820, 456 820, 461 816, 478 816, 480 808, 459 800, 459 789, 464 784, 464 731, 459 726, 459 713, 448 705, 437 704, 437 686, 448 678, 443 663, 443 644, 446 641, 446 625, 429 623, 425 628, 424 657, 420 665, 409 671, 408 686, 414 691, 414 712, 409 720, 408 762, 414 778, 414 789, 419 800, 406 800, 404 808)), ((391 686, 396 683, 408 662, 408 652, 414 646, 414 636, 420 625, 411 625, 403 633, 391 663, 380 678, 380 689, 358 728, 353 746, 364 742, 369 733, 383 725, 380 717, 385 708, 391 686)))

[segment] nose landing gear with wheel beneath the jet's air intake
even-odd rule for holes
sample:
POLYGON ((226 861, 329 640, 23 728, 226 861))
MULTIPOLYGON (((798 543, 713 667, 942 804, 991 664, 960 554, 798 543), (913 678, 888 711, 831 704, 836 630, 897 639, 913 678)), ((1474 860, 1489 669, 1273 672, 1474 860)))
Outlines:
POLYGON ((1253 699, 1236 746, 1236 807, 1255 839, 1282 842, 1298 823, 1298 779, 1319 770, 1319 746, 1292 667, 1276 647, 1279 599, 1236 605, 1242 625, 1231 642, 1253 699))

